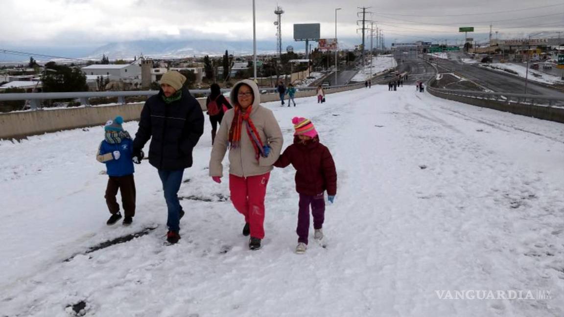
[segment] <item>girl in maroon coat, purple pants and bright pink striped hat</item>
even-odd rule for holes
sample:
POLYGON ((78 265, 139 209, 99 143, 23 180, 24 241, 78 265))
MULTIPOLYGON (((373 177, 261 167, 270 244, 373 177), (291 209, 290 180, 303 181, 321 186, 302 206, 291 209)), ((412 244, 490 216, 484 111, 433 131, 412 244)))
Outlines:
POLYGON ((307 249, 307 235, 310 230, 310 205, 314 218, 314 239, 323 239, 323 221, 325 200, 323 192, 327 190, 327 199, 333 203, 337 193, 337 171, 329 149, 319 143, 318 133, 310 120, 294 117, 294 144, 285 149, 274 166, 285 168, 292 164, 296 169, 296 191, 299 193, 298 245, 296 253, 307 249))

